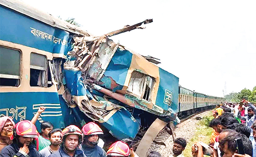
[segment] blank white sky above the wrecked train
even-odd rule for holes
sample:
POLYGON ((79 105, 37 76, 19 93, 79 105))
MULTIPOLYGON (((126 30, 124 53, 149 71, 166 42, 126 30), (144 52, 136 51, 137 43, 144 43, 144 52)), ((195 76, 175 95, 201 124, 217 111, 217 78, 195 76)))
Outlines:
POLYGON ((159 58, 159 67, 199 93, 223 97, 256 86, 254 0, 23 1, 55 17, 73 17, 96 36, 152 18, 146 29, 111 39, 159 58))

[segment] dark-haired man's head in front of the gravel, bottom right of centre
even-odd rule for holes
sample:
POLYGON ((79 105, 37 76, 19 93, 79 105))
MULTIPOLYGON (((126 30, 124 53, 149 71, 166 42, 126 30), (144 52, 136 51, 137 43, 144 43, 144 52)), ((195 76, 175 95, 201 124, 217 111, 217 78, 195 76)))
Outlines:
POLYGON ((184 151, 185 148, 186 148, 185 139, 181 137, 175 139, 173 142, 173 148, 172 148, 172 152, 174 155, 172 157, 184 157, 182 152, 184 151))

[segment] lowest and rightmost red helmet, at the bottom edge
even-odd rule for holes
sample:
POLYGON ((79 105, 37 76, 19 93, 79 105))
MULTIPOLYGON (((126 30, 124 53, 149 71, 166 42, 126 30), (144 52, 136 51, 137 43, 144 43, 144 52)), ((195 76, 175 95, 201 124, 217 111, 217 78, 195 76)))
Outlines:
POLYGON ((109 147, 107 151, 107 156, 110 155, 110 156, 128 157, 129 153, 130 153, 129 146, 122 141, 117 141, 109 147))

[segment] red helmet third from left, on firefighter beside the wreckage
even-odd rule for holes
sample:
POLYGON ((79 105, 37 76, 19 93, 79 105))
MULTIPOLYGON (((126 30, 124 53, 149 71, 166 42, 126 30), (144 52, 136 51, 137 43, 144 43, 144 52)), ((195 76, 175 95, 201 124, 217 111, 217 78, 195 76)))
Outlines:
POLYGON ((99 135, 103 134, 103 131, 101 128, 99 128, 99 125, 95 124, 94 122, 89 122, 85 124, 82 128, 84 135, 99 135))

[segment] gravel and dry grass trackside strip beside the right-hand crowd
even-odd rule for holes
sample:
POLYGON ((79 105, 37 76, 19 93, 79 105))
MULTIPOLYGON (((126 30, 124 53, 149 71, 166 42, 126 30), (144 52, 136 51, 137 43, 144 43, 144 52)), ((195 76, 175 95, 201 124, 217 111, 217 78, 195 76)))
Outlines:
MULTIPOLYGON (((213 119, 212 111, 207 111, 204 113, 200 113, 198 115, 193 116, 190 119, 180 123, 177 125, 175 129, 176 137, 183 137, 187 141, 187 146, 183 151, 185 157, 191 157, 191 147, 193 143, 196 142, 204 142, 206 144, 210 141, 210 136, 212 134, 212 128, 209 128, 207 125, 210 120, 213 119), (197 120, 196 117, 201 117, 201 120, 197 120)), ((172 153, 173 139, 170 136, 164 145, 158 145, 153 143, 151 147, 148 149, 150 151, 158 151, 162 155, 162 157, 169 157, 172 153)))

